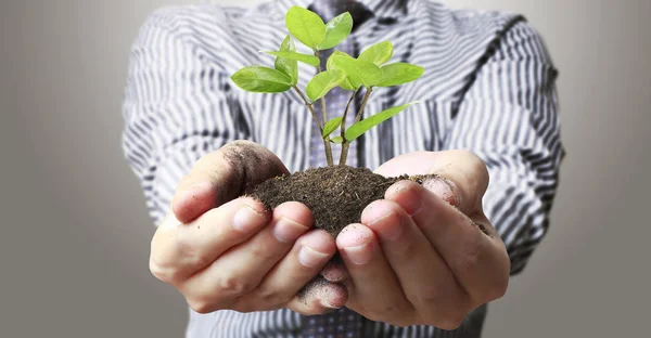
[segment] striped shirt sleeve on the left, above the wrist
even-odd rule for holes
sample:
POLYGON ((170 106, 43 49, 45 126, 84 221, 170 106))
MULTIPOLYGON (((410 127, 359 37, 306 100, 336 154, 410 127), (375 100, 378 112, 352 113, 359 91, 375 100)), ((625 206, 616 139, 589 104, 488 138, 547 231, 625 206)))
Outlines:
POLYGON ((245 138, 228 76, 193 43, 192 16, 152 14, 133 42, 123 106, 123 148, 158 223, 179 180, 204 154, 245 138))

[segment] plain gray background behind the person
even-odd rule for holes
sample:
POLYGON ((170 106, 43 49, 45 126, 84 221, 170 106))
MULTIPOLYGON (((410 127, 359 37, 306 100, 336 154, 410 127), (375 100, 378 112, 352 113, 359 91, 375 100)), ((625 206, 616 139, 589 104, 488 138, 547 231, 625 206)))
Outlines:
MULTIPOLYGON (((191 2, 0 2, 1 337, 181 337, 119 135, 139 26, 191 2)), ((649 337, 651 1, 448 2, 526 14, 561 69, 551 231, 485 337, 649 337)))

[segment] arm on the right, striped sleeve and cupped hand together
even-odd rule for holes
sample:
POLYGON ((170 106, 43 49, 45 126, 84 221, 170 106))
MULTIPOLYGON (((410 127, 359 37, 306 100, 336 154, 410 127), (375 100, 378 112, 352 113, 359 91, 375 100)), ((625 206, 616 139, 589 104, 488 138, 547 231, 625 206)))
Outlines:
POLYGON ((455 151, 378 168, 439 178, 396 183, 339 235, 347 307, 392 325, 455 329, 505 295, 545 233, 562 156, 556 70, 539 46, 524 24, 502 37, 450 123, 445 145, 455 151))

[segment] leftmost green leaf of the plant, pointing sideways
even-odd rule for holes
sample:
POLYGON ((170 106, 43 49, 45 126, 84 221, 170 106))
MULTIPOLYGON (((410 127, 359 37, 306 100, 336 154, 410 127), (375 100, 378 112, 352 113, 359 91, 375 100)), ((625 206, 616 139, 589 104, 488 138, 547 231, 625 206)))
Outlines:
POLYGON ((254 93, 281 93, 292 88, 292 80, 286 75, 265 66, 244 67, 235 72, 231 80, 254 93))

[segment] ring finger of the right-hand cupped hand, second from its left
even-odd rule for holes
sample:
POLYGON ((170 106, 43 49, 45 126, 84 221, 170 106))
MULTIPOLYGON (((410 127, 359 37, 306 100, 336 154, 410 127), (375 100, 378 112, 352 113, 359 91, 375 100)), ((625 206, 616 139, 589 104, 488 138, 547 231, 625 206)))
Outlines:
MULTIPOLYGON (((365 209, 361 222, 380 238, 384 256, 417 313, 442 321, 449 318, 451 309, 463 309, 455 317, 461 321, 467 311, 472 310, 465 290, 399 205, 376 200, 365 209)), ((436 324, 448 326, 449 323, 436 324)))

